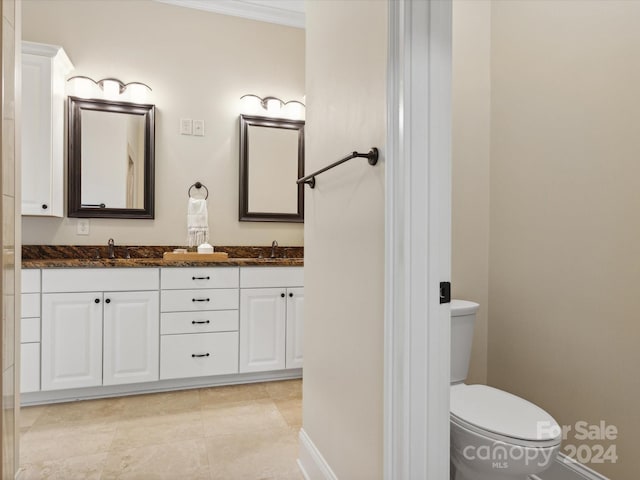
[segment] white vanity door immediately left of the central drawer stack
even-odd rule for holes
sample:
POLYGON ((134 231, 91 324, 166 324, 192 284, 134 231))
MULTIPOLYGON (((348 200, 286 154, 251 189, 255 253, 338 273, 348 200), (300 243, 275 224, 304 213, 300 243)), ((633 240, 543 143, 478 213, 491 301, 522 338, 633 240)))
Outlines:
POLYGON ((158 292, 104 293, 103 385, 158 380, 158 292))

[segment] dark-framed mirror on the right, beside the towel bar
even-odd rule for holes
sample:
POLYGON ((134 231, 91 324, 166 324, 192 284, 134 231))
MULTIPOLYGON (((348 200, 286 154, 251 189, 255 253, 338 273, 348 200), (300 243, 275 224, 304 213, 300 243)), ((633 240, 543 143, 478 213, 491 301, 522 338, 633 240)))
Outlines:
POLYGON ((240 115, 240 221, 303 222, 304 121, 240 115))

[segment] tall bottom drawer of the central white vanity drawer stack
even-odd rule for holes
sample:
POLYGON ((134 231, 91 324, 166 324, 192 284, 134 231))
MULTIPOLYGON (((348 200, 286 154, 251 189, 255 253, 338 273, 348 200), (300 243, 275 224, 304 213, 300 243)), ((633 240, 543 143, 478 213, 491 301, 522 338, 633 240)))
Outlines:
POLYGON ((238 373, 238 332, 160 338, 160 379, 230 373, 238 373))

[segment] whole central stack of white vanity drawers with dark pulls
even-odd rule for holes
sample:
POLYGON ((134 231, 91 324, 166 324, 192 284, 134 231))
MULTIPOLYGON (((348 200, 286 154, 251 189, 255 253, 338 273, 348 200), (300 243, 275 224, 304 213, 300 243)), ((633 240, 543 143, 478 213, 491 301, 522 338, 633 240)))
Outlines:
POLYGON ((162 269, 162 380, 238 373, 238 282, 238 267, 162 269))

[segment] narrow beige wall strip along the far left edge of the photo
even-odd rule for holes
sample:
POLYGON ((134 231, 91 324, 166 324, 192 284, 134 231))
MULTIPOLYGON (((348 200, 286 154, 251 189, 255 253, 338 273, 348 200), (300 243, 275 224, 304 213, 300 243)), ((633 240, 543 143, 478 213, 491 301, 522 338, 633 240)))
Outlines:
POLYGON ((0 343, 2 352, 2 446, 1 478, 14 478, 18 468, 19 446, 16 437, 19 404, 19 362, 16 361, 18 338, 20 335, 20 302, 19 293, 20 254, 16 255, 16 245, 20 244, 20 224, 16 198, 20 198, 19 180, 20 147, 15 142, 16 131, 19 131, 19 96, 20 87, 15 81, 20 78, 20 69, 16 70, 16 39, 20 37, 20 3, 5 0, 0 4, 2 11, 0 30, 2 32, 2 103, 0 105, 2 124, 0 177, 2 178, 2 195, 0 207, 2 212, 2 261, 0 262, 0 291, 2 311, 2 328, 0 343), (18 297, 19 298, 19 297, 18 297))

